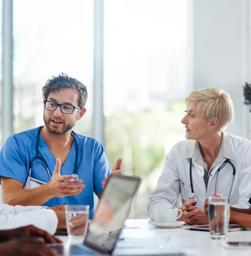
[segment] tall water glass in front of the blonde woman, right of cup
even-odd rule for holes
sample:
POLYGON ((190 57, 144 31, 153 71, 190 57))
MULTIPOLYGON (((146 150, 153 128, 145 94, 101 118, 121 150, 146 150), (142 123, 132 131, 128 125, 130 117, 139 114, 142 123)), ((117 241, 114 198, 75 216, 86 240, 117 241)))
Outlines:
POLYGON ((225 239, 229 229, 229 198, 213 196, 208 198, 209 224, 212 239, 225 239))

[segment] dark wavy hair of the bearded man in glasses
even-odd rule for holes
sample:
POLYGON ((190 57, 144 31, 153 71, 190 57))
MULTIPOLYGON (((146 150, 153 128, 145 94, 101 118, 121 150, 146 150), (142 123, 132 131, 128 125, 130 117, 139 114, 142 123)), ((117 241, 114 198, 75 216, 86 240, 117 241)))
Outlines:
POLYGON ((78 107, 83 108, 87 100, 87 89, 77 79, 72 78, 65 73, 59 75, 53 75, 52 78, 48 79, 43 87, 43 99, 47 100, 49 94, 54 91, 59 91, 62 88, 74 89, 78 92, 78 107))

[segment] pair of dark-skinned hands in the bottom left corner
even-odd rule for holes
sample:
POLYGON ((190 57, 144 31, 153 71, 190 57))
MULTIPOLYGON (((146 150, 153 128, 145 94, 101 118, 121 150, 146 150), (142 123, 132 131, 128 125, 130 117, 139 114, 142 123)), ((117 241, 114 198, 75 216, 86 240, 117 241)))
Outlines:
POLYGON ((55 256, 57 253, 46 243, 62 243, 56 237, 34 226, 0 230, 0 255, 55 256))

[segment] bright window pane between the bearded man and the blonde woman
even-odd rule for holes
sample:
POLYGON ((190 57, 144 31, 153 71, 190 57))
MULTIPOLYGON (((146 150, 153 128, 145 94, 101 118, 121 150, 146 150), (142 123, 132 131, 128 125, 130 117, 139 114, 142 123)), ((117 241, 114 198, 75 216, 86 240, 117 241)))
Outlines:
POLYGON ((148 218, 149 192, 165 154, 185 129, 186 1, 104 1, 104 115, 106 152, 125 174, 143 177, 134 205, 148 218))

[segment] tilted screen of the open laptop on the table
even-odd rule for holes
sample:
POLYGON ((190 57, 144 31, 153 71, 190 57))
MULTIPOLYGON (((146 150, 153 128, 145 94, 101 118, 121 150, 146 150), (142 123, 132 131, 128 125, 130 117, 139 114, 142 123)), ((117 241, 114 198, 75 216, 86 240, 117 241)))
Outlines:
POLYGON ((113 251, 139 184, 139 177, 110 175, 85 237, 85 245, 103 252, 113 251))

